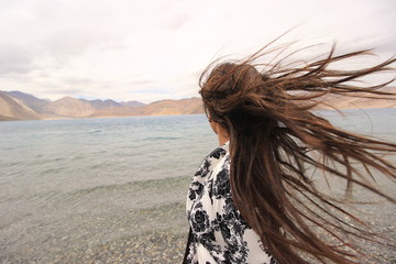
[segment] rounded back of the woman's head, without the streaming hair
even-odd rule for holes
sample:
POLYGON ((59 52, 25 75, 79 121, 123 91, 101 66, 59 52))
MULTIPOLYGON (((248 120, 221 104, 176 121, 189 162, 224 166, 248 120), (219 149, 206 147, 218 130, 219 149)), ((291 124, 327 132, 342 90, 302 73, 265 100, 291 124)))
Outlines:
POLYGON ((208 117, 230 135, 249 133, 262 121, 268 122, 262 114, 262 108, 265 108, 262 101, 270 100, 274 92, 265 81, 266 77, 252 65, 218 65, 199 91, 208 117))

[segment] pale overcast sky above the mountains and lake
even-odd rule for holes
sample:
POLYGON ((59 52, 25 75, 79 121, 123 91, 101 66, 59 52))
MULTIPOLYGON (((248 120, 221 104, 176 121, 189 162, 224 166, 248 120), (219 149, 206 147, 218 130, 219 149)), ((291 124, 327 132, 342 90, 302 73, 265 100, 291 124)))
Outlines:
POLYGON ((197 97, 201 72, 278 44, 396 54, 394 0, 0 0, 0 90, 38 98, 197 97))

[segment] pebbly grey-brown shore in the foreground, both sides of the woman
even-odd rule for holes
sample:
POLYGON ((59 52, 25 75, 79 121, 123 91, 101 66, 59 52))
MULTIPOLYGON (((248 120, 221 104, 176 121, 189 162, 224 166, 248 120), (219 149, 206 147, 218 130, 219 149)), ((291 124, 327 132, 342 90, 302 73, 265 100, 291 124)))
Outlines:
MULTIPOLYGON (((176 182, 174 194, 185 191, 183 182, 176 182)), ((393 184, 389 180, 381 182, 380 178, 378 185, 381 188, 389 188, 387 193, 391 194, 393 184)), ((157 187, 164 188, 164 186, 157 187)), ((337 189, 342 193, 340 188, 337 189)), ((388 239, 383 241, 385 244, 358 241, 364 254, 360 263, 396 264, 395 205, 367 194, 362 188, 354 188, 353 194, 360 201, 353 205, 353 213, 367 222, 374 232, 388 239)), ((177 196, 183 197, 180 194, 177 196)), ((76 227, 68 227, 69 234, 53 230, 52 234, 43 234, 43 238, 52 237, 50 240, 41 240, 40 235, 34 234, 33 238, 36 238, 34 241, 13 249, 4 246, 0 238, 0 263, 182 263, 188 233, 184 202, 157 205, 150 209, 142 208, 129 212, 114 209, 109 215, 114 218, 100 219, 102 216, 92 211, 78 215, 77 217, 84 218, 85 221, 78 221, 79 224, 76 227)), ((353 223, 348 217, 343 220, 353 223)), ((67 227, 73 222, 77 222, 77 219, 69 219, 64 226, 67 227)), ((326 239, 326 234, 320 233, 320 235, 326 239)))

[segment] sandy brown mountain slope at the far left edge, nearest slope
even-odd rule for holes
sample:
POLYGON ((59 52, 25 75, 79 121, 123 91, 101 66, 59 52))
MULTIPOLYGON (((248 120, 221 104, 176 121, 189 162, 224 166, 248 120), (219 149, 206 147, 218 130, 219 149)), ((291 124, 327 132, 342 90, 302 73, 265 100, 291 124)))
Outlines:
POLYGON ((21 100, 0 91, 0 120, 34 120, 41 114, 25 106, 21 100))

